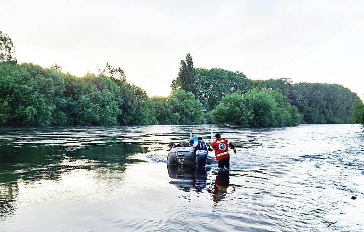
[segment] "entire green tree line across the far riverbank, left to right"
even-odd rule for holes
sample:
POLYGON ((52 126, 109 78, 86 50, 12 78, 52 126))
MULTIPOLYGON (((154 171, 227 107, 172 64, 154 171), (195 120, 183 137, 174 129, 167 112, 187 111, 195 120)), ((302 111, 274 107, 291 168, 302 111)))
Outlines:
POLYGON ((171 94, 150 98, 120 67, 106 64, 98 74, 76 77, 57 65, 18 64, 1 32, 0 45, 0 125, 285 127, 363 119, 362 102, 341 85, 250 80, 242 72, 194 68, 190 54, 180 62, 171 94))

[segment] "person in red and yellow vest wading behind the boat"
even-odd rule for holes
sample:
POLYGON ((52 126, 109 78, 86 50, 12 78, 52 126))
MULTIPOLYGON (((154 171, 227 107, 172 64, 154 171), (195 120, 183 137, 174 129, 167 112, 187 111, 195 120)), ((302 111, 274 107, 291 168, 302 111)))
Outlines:
POLYGON ((211 146, 208 148, 209 151, 215 150, 216 160, 218 162, 219 168, 226 169, 230 168, 230 154, 229 154, 229 147, 231 147, 236 154, 236 148, 233 143, 231 143, 227 139, 221 139, 221 135, 217 133, 215 135, 216 140, 211 143, 211 146))

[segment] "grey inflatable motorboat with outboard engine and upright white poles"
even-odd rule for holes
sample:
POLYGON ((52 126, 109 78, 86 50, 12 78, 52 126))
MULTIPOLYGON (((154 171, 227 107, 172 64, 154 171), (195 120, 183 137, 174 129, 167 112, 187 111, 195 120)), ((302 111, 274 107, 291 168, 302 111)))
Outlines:
MULTIPOLYGON (((190 131, 190 141, 192 137, 192 131, 194 128, 191 128, 190 131)), ((212 127, 211 127, 211 141, 212 141, 212 127)), ((179 164, 179 165, 188 165, 188 166, 199 166, 203 167, 206 164, 212 164, 216 162, 216 158, 213 155, 209 155, 209 153, 205 150, 197 150, 195 155, 195 149, 190 147, 174 147, 170 149, 167 156, 168 163, 170 164, 179 164)))

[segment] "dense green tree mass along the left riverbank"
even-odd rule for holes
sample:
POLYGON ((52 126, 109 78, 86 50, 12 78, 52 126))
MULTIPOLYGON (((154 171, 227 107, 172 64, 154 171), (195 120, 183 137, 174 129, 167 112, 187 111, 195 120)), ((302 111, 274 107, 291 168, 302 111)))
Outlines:
POLYGON ((139 87, 102 74, 78 78, 26 63, 0 63, 0 105, 0 125, 157 123, 139 87))

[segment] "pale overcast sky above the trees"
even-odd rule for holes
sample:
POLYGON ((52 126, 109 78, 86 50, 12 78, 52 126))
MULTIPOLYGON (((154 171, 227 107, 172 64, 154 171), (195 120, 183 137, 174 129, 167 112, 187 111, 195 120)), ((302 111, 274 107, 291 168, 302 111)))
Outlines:
POLYGON ((20 63, 98 73, 109 62, 167 96, 187 53, 195 68, 249 79, 341 84, 364 99, 364 1, 0 0, 20 63))

